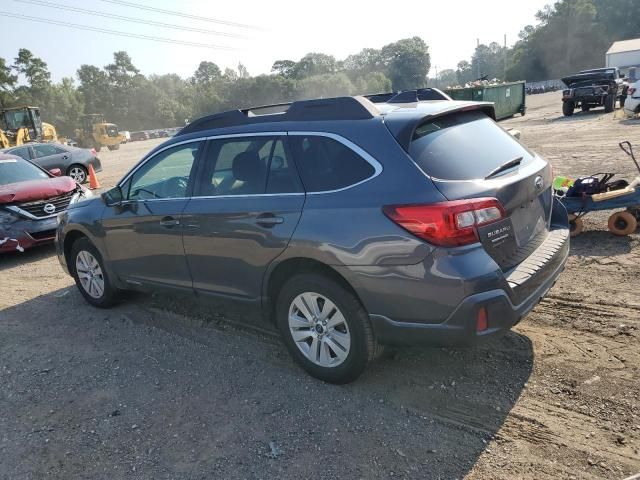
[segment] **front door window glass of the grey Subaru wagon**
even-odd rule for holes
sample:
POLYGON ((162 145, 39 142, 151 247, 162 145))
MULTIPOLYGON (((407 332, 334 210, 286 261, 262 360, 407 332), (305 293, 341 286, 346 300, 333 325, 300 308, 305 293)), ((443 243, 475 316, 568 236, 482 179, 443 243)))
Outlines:
POLYGON ((129 180, 128 200, 184 198, 203 142, 169 148, 147 161, 129 180))

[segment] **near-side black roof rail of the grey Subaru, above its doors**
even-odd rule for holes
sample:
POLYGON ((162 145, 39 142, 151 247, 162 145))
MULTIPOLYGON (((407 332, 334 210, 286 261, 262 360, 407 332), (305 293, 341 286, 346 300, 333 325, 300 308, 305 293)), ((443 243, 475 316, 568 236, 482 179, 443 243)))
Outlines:
POLYGON ((380 115, 380 112, 375 105, 360 96, 300 100, 292 103, 277 103, 208 115, 190 123, 176 135, 255 123, 366 120, 378 115, 380 115))

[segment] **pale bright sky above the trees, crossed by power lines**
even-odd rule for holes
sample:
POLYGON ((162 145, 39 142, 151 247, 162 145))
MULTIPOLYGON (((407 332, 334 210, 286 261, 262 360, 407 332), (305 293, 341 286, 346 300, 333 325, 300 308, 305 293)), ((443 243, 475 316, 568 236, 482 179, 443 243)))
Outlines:
POLYGON ((126 50, 145 75, 177 73, 188 77, 202 60, 215 62, 223 70, 237 68, 242 62, 251 75, 258 75, 269 73, 275 60, 299 60, 308 52, 327 53, 341 60, 363 48, 380 48, 417 35, 429 46, 432 65, 429 75, 433 76, 435 68, 455 69, 458 61, 470 59, 477 39, 481 43, 502 44, 506 34, 507 44, 513 44, 518 32, 525 25, 534 24, 535 13, 547 3, 552 1, 2 0, 0 57, 11 64, 19 48, 28 48, 47 62, 54 81, 75 77, 81 64, 107 65, 118 50, 126 50), (91 13, 69 11, 61 6, 91 13), (2 16, 5 13, 54 23, 2 16), (205 32, 134 23, 102 14, 205 32), (115 36, 55 22, 208 46, 115 36))

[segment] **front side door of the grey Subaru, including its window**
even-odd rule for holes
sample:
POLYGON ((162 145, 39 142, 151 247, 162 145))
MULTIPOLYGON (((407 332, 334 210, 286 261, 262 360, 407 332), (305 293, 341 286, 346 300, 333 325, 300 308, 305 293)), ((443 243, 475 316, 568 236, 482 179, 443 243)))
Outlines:
POLYGON ((105 208, 105 244, 116 274, 132 285, 191 288, 182 212, 203 141, 158 151, 120 184, 123 201, 105 208))

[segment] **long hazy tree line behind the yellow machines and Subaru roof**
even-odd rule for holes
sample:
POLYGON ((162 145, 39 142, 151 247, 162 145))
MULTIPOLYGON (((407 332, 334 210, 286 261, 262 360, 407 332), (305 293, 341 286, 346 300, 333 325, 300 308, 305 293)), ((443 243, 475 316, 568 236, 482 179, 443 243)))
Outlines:
POLYGON ((47 63, 22 48, 11 64, 0 58, 0 106, 38 106, 43 120, 67 136, 84 113, 102 113, 121 130, 141 130, 184 125, 185 119, 232 108, 423 87, 429 68, 426 43, 413 37, 344 60, 313 52, 298 61, 277 60, 271 74, 257 76, 242 64, 222 71, 208 60, 186 79, 145 76, 119 51, 102 68, 81 65, 77 82, 65 77, 53 83, 47 63))

